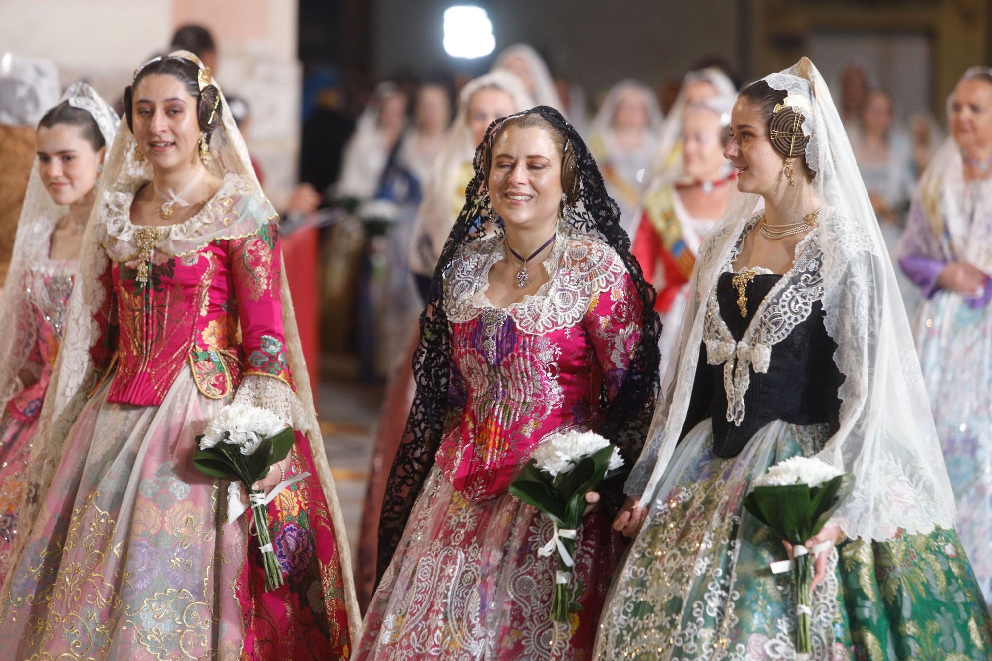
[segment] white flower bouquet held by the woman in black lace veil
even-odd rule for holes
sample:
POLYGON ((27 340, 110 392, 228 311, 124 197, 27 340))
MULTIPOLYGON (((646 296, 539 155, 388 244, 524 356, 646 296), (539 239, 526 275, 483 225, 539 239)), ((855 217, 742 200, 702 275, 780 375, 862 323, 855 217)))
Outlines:
POLYGON ((617 447, 603 437, 592 432, 565 432, 538 446, 510 484, 510 493, 547 514, 555 525, 552 539, 538 555, 547 558, 558 550, 552 618, 559 622, 568 621, 578 609, 573 595, 582 591, 581 584, 572 590, 570 581, 585 494, 622 467, 617 447))

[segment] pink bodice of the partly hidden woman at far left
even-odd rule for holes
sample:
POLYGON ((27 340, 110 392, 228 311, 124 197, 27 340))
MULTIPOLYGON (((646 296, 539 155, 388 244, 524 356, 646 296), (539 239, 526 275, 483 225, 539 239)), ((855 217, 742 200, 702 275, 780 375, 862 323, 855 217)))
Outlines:
MULTIPOLYGON (((38 379, 11 397, 7 410, 25 422, 38 418, 45 401, 45 393, 56 364, 62 329, 72 293, 72 276, 76 262, 44 259, 40 264, 26 268, 25 298, 30 305, 30 319, 34 324, 35 340, 28 360, 38 371, 38 379)), ((30 336, 30 335, 29 335, 30 336)))

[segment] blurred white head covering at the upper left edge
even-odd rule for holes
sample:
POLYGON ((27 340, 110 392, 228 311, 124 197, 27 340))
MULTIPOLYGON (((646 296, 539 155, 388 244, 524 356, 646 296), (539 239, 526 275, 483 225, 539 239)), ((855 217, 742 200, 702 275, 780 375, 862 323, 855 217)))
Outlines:
POLYGON ((38 126, 59 102, 59 71, 48 60, 0 55, 0 124, 38 126))

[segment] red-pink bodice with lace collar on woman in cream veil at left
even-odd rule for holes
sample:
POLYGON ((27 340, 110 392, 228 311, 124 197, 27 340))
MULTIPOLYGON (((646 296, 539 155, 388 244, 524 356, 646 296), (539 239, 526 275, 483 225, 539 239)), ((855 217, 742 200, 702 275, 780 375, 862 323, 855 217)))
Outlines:
POLYGON ((108 296, 97 316, 105 331, 91 352, 96 365, 116 362, 108 401, 161 404, 186 365, 213 399, 250 375, 292 387, 271 203, 228 175, 186 222, 147 227, 130 221, 133 198, 108 199, 100 239, 108 296))

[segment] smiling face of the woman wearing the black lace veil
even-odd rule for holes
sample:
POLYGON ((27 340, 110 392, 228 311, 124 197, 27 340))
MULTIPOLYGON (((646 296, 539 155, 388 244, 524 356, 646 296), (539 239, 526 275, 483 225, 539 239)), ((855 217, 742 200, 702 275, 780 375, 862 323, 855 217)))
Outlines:
POLYGON ((508 226, 553 223, 561 204, 561 153, 548 131, 509 126, 492 146, 489 197, 508 226))

